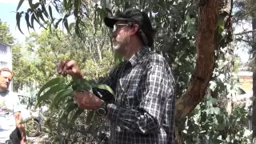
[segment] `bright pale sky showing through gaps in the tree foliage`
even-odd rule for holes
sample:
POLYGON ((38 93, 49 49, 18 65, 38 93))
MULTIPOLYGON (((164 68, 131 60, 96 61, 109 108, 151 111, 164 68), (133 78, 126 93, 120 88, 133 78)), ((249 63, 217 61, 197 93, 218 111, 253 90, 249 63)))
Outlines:
MULTIPOLYGON (((14 35, 14 38, 16 38, 19 43, 24 44, 26 36, 29 36, 29 31, 27 30, 26 22, 24 18, 22 18, 22 21, 21 21, 21 29, 24 35, 18 30, 18 27, 16 26, 15 11, 17 9, 18 2, 19 0, 0 0, 0 18, 2 22, 7 22, 7 25, 9 25, 10 27, 10 32, 14 35)), ((33 2, 36 2, 36 1, 34 0, 33 2)), ((22 11, 22 10, 26 11, 28 7, 29 7, 28 1, 25 0, 18 11, 22 11)), ((53 11, 53 15, 55 18, 56 17, 59 18, 59 15, 56 11, 53 11)), ((72 18, 69 18, 69 22, 70 20, 72 21, 72 18)), ((42 29, 39 29, 37 22, 34 22, 34 25, 35 25, 35 31, 40 34, 42 29)), ((236 34, 236 33, 242 32, 243 30, 242 27, 247 30, 251 30, 250 24, 247 23, 246 25, 236 26, 234 33, 236 34)), ((33 30, 30 30, 30 31, 33 31, 33 30)), ((244 47, 244 46, 238 45, 237 48, 239 49, 235 50, 235 53, 242 58, 242 62, 247 62, 249 58, 249 54, 246 53, 245 49, 241 49, 241 47, 244 47)))

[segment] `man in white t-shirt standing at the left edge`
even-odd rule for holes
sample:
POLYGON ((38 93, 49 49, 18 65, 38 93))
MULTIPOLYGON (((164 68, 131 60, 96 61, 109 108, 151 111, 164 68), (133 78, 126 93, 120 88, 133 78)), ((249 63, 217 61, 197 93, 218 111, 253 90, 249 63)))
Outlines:
POLYGON ((26 144, 18 95, 8 90, 13 73, 0 69, 0 143, 26 144))

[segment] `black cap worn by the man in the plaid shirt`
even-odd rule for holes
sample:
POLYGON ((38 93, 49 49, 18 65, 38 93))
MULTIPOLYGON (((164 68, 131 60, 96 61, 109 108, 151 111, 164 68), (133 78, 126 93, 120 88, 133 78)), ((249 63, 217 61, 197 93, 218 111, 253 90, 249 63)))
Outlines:
POLYGON ((154 43, 154 34, 156 30, 151 25, 150 18, 145 12, 138 9, 126 9, 122 14, 104 18, 106 26, 114 28, 114 24, 118 21, 134 22, 138 24, 138 36, 147 46, 154 43))

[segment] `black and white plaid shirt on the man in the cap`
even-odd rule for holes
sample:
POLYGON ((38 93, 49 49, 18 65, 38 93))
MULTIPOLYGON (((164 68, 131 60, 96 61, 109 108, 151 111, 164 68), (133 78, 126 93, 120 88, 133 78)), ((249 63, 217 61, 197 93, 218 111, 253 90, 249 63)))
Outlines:
POLYGON ((174 78, 165 59, 148 47, 106 79, 116 93, 107 106, 112 144, 174 143, 174 78))

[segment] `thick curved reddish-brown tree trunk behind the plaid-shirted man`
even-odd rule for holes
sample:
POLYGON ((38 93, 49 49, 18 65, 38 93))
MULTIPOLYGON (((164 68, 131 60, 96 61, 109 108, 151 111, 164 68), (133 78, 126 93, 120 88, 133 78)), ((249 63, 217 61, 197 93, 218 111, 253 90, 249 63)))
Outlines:
MULTIPOLYGON (((212 78, 215 50, 218 48, 218 18, 220 18, 218 13, 221 8, 219 0, 200 0, 198 2, 197 62, 186 94, 178 99, 175 106, 174 130, 177 143, 182 143, 180 131, 186 116, 202 101, 212 78)), ((230 7, 230 9, 232 8, 230 7)), ((227 14, 229 13, 230 11, 227 11, 227 14)), ((225 16, 222 15, 221 18, 225 18, 225 16)))

